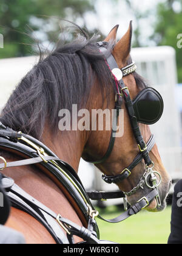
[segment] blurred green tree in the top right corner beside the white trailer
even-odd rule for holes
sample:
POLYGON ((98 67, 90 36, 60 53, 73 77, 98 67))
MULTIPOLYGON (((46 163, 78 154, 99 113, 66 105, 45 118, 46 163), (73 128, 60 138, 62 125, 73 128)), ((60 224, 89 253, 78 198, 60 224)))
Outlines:
MULTIPOLYGON (((182 34, 182 0, 166 0, 158 4, 157 22, 151 39, 157 45, 169 45, 177 52, 178 82, 182 83, 182 49, 178 47, 182 34)), ((181 45, 182 46, 182 45, 181 45)))

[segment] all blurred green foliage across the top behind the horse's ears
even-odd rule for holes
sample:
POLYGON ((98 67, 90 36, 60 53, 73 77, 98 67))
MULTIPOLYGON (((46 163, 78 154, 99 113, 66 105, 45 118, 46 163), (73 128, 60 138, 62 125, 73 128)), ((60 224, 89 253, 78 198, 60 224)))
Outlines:
MULTIPOLYGON (((117 5, 119 0, 109 1, 113 5, 117 5)), ((134 1, 123 0, 123 5, 125 4, 128 7, 129 13, 135 18, 133 47, 143 46, 140 21, 143 19, 149 20, 153 15, 155 17, 155 22, 152 24, 153 34, 150 35, 148 40, 154 41, 156 45, 169 45, 175 48, 177 52, 178 82, 182 83, 182 50, 177 48, 177 35, 182 33, 182 0, 161 0, 155 10, 146 11, 141 11, 140 7, 136 7, 133 4, 134 1), (178 5, 178 10, 175 8, 176 5, 178 5)), ((0 57, 31 55, 32 46, 29 44, 33 41, 31 42, 30 37, 25 34, 37 35, 35 32, 41 32, 39 34, 40 41, 45 39, 47 41, 55 40, 56 33, 57 36, 60 33, 59 24, 55 23, 52 30, 50 30, 47 28, 47 24, 50 24, 49 18, 46 20, 40 15, 58 16, 70 21, 77 21, 79 18, 83 27, 86 27, 84 15, 87 12, 96 14, 95 3, 96 0, 1 0, 0 33, 4 35, 5 48, 4 51, 1 51, 0 57)), ((118 23, 120 22, 118 21, 118 23)), ((90 31, 90 33, 92 32, 90 31)), ((70 37, 71 39, 72 37, 70 37)))

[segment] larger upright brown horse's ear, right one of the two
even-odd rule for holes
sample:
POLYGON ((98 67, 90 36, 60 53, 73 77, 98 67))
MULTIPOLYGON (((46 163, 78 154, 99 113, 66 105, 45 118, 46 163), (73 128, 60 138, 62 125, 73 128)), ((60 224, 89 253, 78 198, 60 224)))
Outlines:
POLYGON ((119 68, 123 68, 126 65, 127 59, 130 54, 132 44, 132 21, 130 21, 129 29, 126 34, 116 43, 113 48, 113 55, 115 56, 116 62, 119 68))

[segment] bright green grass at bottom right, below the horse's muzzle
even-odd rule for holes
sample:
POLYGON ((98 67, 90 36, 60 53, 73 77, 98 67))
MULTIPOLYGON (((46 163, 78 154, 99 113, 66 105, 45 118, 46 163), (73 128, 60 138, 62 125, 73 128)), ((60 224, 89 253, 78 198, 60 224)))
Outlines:
MULTIPOLYGON (((100 215, 112 219, 121 214, 117 207, 98 209, 100 215)), ((120 244, 167 244, 170 234, 171 208, 160 213, 150 213, 143 210, 126 221, 110 224, 96 219, 102 240, 114 241, 120 244)))

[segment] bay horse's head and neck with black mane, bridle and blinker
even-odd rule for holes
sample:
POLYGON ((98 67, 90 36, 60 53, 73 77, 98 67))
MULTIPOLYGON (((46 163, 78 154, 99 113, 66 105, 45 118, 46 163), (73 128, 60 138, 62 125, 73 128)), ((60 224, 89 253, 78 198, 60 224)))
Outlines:
MULTIPOLYGON (((170 177, 161 162, 148 124, 152 120, 151 113, 154 113, 152 122, 160 118, 163 101, 160 94, 146 87, 144 79, 134 72, 136 66, 130 58, 132 24, 116 43, 117 30, 118 26, 115 26, 104 42, 99 43, 98 37, 88 39, 85 34, 85 37, 59 46, 41 59, 13 91, 1 112, 0 121, 5 127, 40 140, 76 172, 81 157, 94 162, 103 172, 103 179, 115 182, 131 205, 142 200, 143 208, 160 211, 166 205, 170 177), (154 108, 149 107, 148 103, 153 104, 150 98, 154 108), (146 109, 142 110, 138 103, 147 104, 146 109), (74 112, 75 105, 78 113, 74 112), (158 111, 156 106, 160 106, 158 111), (115 108, 116 118, 115 115, 113 118, 112 115, 108 115, 109 118, 104 116, 103 129, 98 127, 99 115, 96 119, 90 118, 93 110, 103 110, 106 114, 115 108), (65 110, 63 116, 62 110, 65 110), (140 110, 138 115, 137 110, 140 110), (143 120, 139 116, 141 112, 146 112, 143 120), (69 124, 70 119, 72 125, 69 124), (113 132, 114 126, 108 128, 107 122, 112 123, 112 119, 118 121, 119 128, 123 127, 120 136, 113 132), (78 122, 74 123, 74 120, 78 122), (154 191, 152 196, 150 191, 154 191)), ((7 162, 17 160, 16 154, 5 152, 4 148, 1 148, 1 155, 7 162)), ((62 193, 55 180, 44 173, 31 166, 13 170, 5 168, 3 173, 50 209, 79 225, 84 223, 76 203, 70 204, 67 194, 62 193)), ((26 226, 21 232, 28 230, 30 217, 24 216, 21 220, 18 216, 16 209, 12 211, 10 227, 26 226)), ((41 226, 34 230, 35 233, 40 229, 41 226)), ((25 235, 27 241, 36 241, 29 232, 25 235)), ((47 239, 49 235, 46 238, 49 241, 47 239)))

